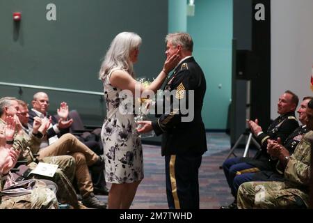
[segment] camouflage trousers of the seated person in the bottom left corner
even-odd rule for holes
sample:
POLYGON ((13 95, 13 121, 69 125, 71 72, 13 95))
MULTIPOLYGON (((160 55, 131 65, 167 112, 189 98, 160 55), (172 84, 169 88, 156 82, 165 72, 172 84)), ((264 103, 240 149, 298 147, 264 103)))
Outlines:
MULTIPOLYGON (((2 183, 1 179, 1 183, 2 183)), ((2 185, 0 185, 2 191, 2 185)), ((0 209, 58 209, 58 200, 47 185, 36 180, 31 194, 18 197, 0 197, 0 209)))

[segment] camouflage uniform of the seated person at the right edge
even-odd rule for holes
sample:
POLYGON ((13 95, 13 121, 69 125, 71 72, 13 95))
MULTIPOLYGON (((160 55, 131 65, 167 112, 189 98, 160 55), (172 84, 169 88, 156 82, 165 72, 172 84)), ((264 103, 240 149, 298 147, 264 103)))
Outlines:
POLYGON ((247 182, 239 187, 238 208, 306 208, 310 183, 313 131, 307 132, 289 157, 284 182, 247 182))

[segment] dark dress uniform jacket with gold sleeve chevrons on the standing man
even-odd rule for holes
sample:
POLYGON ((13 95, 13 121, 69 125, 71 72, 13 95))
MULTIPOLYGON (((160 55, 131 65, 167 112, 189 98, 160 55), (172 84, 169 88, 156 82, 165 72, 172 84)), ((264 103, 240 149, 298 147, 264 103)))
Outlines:
POLYGON ((168 93, 173 93, 175 90, 170 102, 170 112, 152 122, 154 132, 157 135, 163 134, 162 155, 202 155, 207 151, 207 139, 201 116, 206 88, 202 69, 193 57, 185 59, 175 68, 163 89, 164 92, 168 93), (191 99, 188 98, 189 90, 194 91, 194 103, 191 103, 194 117, 191 122, 183 122, 182 117, 187 115, 182 114, 181 107, 177 108, 175 105, 183 101, 188 105, 189 99, 191 99))

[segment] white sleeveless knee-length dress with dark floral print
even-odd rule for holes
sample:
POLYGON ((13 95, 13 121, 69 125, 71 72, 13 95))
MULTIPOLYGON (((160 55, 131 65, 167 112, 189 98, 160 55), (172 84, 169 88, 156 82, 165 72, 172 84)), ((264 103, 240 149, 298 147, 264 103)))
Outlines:
MULTIPOLYGON (((102 126, 105 176, 108 183, 133 183, 143 179, 143 148, 136 132, 134 113, 127 109, 120 98, 121 89, 110 83, 111 70, 103 79, 106 100, 106 118, 102 126), (124 109, 124 110, 123 110, 124 109)), ((130 108, 133 109, 133 108, 130 108)))

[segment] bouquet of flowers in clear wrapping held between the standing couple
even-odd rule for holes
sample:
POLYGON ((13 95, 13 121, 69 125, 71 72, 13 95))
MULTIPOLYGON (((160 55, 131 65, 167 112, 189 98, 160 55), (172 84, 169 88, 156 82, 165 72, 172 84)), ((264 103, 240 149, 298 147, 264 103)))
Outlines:
MULTIPOLYGON (((138 79, 138 82, 143 84, 143 86, 147 87, 151 84, 151 82, 145 78, 138 79)), ((150 106, 152 105, 152 98, 138 98, 138 100, 135 102, 135 122, 138 121, 148 121, 149 118, 147 118, 147 114, 150 112, 150 106)), ((137 128, 141 128, 140 125, 137 126, 137 128)), ((155 133, 154 131, 147 132, 140 134, 141 138, 148 138, 148 137, 154 137, 155 133)))

